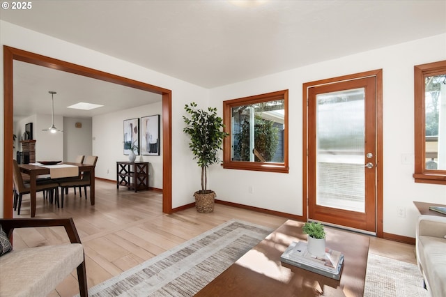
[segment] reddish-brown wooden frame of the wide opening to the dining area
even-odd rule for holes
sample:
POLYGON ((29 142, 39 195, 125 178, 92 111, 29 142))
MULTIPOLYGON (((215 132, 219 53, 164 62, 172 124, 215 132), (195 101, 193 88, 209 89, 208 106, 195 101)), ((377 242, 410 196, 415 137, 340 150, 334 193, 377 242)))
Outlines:
POLYGON ((13 201, 8 197, 12 197, 13 192, 13 142, 11 139, 14 118, 14 60, 160 94, 162 96, 162 212, 172 213, 171 90, 3 45, 3 218, 13 218, 13 201))

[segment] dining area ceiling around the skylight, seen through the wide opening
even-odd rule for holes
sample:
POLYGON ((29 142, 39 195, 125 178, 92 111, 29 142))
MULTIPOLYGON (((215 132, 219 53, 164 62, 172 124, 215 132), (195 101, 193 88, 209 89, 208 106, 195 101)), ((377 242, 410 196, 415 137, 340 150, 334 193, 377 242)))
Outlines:
POLYGON ((14 61, 13 68, 15 121, 32 114, 51 114, 48 91, 57 92, 54 114, 68 117, 91 118, 162 100, 159 94, 21 61, 14 61), (89 111, 67 108, 78 102, 104 106, 89 111))

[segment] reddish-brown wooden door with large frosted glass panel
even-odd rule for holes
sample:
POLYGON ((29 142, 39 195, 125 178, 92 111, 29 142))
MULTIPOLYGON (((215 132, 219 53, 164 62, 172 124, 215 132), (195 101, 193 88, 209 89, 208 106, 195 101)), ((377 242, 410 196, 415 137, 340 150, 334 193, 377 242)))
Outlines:
POLYGON ((308 217, 376 231, 375 77, 308 90, 308 217))

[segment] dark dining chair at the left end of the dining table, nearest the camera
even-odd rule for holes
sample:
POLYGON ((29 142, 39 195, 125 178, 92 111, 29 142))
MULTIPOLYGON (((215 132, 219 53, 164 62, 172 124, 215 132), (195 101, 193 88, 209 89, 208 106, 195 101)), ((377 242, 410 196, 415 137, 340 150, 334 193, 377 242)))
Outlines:
MULTIPOLYGON (((15 189, 14 210, 17 210, 17 215, 20 215, 20 208, 22 208, 22 196, 31 192, 31 185, 29 183, 24 183, 22 173, 20 172, 20 168, 16 160, 13 160, 13 181, 15 189)), ((52 180, 36 183, 36 192, 46 190, 51 190, 51 197, 54 196, 54 190, 56 191, 55 197, 57 205, 59 206, 59 184, 54 183, 52 180)))

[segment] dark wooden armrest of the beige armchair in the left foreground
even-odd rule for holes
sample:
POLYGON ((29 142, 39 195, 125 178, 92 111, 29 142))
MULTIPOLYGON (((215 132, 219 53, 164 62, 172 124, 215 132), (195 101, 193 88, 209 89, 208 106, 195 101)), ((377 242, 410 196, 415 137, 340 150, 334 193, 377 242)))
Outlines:
POLYGON ((81 243, 79 234, 72 218, 16 218, 16 219, 0 219, 1 227, 11 240, 15 228, 33 228, 33 227, 55 227, 63 226, 70 238, 71 243, 81 243))

